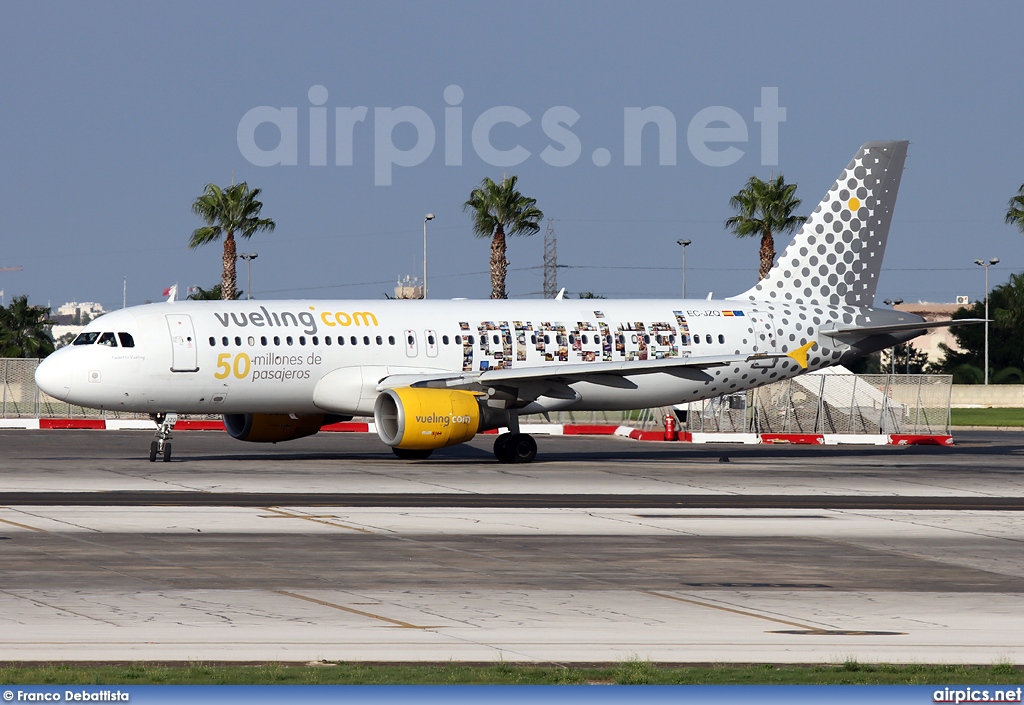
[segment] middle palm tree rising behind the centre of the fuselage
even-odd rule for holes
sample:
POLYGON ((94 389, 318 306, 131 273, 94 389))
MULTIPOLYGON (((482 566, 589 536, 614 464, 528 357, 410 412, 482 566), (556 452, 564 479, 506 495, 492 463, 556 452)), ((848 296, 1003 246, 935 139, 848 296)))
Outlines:
POLYGON ((534 235, 544 218, 537 199, 526 198, 515 189, 517 177, 506 176, 501 183, 489 178, 480 181, 469 200, 462 205, 473 217, 473 235, 490 238, 490 298, 508 298, 505 275, 509 263, 505 259, 506 235, 534 235))

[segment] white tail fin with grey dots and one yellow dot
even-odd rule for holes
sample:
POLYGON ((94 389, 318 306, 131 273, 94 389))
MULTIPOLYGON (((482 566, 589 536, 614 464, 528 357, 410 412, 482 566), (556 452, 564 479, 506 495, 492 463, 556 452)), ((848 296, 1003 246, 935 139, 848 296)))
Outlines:
POLYGON ((861 147, 768 276, 732 298, 870 306, 908 143, 861 147))

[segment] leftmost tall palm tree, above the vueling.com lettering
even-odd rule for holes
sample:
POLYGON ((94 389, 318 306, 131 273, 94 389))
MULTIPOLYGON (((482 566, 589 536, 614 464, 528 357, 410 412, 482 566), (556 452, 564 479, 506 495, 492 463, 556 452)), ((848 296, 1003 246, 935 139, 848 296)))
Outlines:
POLYGON ((224 236, 224 268, 220 280, 221 296, 225 301, 234 296, 234 260, 238 258, 234 236, 249 239, 259 231, 272 233, 275 223, 270 218, 260 218, 263 204, 256 200, 260 189, 249 189, 245 181, 232 183, 227 189, 207 183, 206 192, 193 203, 193 212, 203 218, 205 227, 193 233, 189 249, 216 242, 224 236))

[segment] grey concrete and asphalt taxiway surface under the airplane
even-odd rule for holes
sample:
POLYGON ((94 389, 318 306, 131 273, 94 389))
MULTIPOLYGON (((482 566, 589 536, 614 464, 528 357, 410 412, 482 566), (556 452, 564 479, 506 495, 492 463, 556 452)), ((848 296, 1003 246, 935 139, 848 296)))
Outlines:
POLYGON ((0 661, 1024 661, 1024 434, 148 440, 0 431, 0 661))

